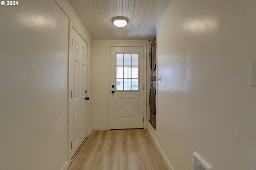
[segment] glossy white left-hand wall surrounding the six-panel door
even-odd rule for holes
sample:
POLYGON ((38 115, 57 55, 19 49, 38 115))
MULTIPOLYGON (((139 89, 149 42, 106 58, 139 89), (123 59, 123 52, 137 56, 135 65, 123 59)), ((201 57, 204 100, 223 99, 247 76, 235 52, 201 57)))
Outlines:
MULTIPOLYGON (((0 10, 0 169, 68 168, 68 22, 92 40, 66 1, 23 0, 0 10)), ((88 91, 91 84, 88 80, 88 91)), ((92 129, 88 102, 88 130, 92 129)))

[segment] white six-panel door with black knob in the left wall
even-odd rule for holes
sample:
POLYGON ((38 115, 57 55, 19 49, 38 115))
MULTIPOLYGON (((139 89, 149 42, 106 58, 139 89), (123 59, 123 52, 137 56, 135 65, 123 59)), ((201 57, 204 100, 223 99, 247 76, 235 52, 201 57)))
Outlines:
POLYGON ((87 136, 87 43, 70 24, 68 148, 71 159, 87 136))

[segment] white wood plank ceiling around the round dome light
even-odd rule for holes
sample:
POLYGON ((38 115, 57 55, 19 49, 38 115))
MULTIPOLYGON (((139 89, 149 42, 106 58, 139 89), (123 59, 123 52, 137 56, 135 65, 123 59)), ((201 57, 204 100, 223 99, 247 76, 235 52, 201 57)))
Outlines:
POLYGON ((172 0, 68 0, 92 39, 154 40, 156 25, 172 0), (118 28, 112 18, 128 18, 118 28))

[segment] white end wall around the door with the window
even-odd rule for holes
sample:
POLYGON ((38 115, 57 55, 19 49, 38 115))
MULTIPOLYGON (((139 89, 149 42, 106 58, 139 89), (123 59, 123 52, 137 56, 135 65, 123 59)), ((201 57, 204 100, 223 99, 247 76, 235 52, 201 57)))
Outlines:
MULTIPOLYGON (((110 127, 108 84, 109 45, 148 45, 148 41, 94 40, 92 49, 92 127, 108 130, 110 127)), ((148 56, 147 56, 148 58, 148 56)))

